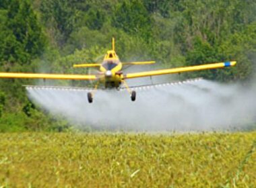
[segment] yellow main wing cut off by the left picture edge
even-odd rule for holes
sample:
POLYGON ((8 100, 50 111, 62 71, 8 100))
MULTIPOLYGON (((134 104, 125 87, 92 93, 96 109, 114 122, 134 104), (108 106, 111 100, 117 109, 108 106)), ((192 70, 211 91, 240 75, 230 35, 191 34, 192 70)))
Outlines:
POLYGON ((6 79, 59 79, 59 80, 96 80, 96 75, 57 75, 44 73, 0 73, 6 79))

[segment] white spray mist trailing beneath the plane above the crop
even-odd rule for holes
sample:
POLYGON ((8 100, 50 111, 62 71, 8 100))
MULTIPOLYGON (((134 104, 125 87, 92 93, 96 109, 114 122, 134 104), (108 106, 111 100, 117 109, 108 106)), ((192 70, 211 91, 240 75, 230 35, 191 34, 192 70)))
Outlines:
POLYGON ((47 111, 97 130, 211 131, 256 122, 256 89, 203 79, 137 89, 135 102, 125 90, 97 91, 94 103, 88 103, 86 91, 27 91, 47 111))

